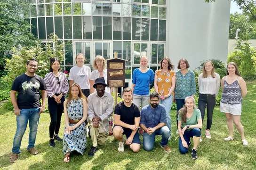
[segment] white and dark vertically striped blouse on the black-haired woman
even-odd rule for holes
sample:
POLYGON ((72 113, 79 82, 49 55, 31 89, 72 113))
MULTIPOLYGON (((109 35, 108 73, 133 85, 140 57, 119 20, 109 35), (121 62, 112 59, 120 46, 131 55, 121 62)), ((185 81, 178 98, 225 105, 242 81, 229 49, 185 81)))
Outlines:
POLYGON ((66 74, 59 72, 59 81, 60 83, 57 83, 56 76, 53 74, 53 72, 50 72, 45 75, 44 81, 46 84, 46 91, 49 97, 54 96, 55 94, 61 94, 66 95, 69 90, 68 85, 68 79, 66 74))

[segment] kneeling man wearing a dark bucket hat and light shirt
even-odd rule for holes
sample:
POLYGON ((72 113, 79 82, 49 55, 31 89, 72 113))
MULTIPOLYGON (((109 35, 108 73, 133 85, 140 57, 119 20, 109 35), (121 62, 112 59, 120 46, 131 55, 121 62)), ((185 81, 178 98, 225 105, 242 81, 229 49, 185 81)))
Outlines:
POLYGON ((114 100, 110 93, 105 92, 106 83, 103 77, 95 80, 93 87, 96 92, 90 94, 88 100, 88 122, 91 124, 90 135, 92 147, 88 156, 94 156, 97 146, 104 145, 108 136, 108 118, 113 113, 114 100))

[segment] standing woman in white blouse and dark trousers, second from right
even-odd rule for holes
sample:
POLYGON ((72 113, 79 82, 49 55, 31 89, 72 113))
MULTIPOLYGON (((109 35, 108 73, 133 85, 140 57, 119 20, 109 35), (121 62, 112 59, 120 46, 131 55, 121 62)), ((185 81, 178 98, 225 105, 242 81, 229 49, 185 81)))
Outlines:
MULTIPOLYGON (((202 120, 207 106, 207 124, 205 136, 211 139, 210 128, 212 125, 213 110, 216 104, 216 96, 220 89, 220 75, 215 73, 214 65, 211 60, 207 60, 203 65, 203 73, 198 76, 199 99, 198 107, 201 111, 202 120)), ((200 141, 202 139, 200 138, 200 141)))

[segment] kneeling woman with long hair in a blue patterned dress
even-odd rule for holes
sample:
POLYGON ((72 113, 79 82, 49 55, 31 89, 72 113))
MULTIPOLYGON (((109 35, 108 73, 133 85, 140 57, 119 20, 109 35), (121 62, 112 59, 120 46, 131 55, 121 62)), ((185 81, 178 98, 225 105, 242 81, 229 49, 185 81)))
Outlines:
POLYGON ((69 89, 68 99, 64 102, 64 119, 66 127, 63 137, 64 162, 70 162, 70 153, 80 154, 86 149, 87 99, 80 86, 73 83, 69 89))

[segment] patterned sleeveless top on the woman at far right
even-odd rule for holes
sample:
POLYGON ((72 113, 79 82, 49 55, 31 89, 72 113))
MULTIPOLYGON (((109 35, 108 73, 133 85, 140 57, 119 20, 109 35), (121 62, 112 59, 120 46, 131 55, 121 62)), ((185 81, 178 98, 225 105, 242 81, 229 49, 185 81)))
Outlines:
POLYGON ((220 101, 221 103, 226 103, 226 104, 242 103, 241 88, 237 80, 229 84, 226 81, 226 77, 225 77, 222 98, 220 101))

